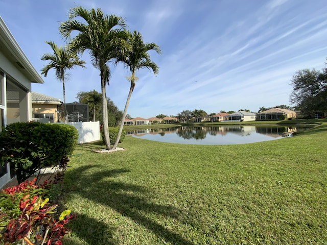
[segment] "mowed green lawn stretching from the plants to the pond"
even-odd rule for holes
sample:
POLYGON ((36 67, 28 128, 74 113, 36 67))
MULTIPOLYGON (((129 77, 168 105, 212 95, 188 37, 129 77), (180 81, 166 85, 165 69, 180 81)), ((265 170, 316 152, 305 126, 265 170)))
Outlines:
POLYGON ((294 137, 186 145, 125 137, 79 145, 64 244, 326 244, 327 120, 294 137))

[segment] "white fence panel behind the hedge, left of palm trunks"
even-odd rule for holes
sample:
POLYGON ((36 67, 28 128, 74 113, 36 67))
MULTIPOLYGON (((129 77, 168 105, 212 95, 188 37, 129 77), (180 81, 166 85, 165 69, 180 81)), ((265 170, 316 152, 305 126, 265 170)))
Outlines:
POLYGON ((100 140, 100 121, 67 122, 67 125, 77 129, 79 144, 100 140))

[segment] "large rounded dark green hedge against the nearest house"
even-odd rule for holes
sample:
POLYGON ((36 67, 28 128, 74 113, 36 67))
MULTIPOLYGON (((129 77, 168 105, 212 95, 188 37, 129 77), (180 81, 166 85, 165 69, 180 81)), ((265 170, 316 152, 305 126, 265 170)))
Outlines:
POLYGON ((0 132, 0 164, 14 165, 19 183, 42 167, 58 165, 77 146, 75 127, 40 122, 15 122, 0 132))

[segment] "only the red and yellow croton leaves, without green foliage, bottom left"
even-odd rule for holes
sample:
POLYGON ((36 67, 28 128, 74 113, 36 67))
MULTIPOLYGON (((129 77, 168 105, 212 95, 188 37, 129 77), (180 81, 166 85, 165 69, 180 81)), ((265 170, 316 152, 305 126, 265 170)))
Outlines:
MULTIPOLYGON (((17 191, 25 192, 23 187, 38 188, 33 183, 33 181, 24 182, 17 188, 7 188, 5 191, 10 194, 17 191)), ((56 221, 53 214, 56 213, 57 207, 57 204, 51 205, 48 198, 43 200, 37 195, 33 198, 30 198, 30 194, 25 195, 19 202, 21 214, 18 218, 9 221, 3 234, 0 234, 0 242, 9 245, 24 239, 30 245, 61 245, 62 237, 69 231, 64 225, 74 219, 76 214, 65 210, 56 221)))

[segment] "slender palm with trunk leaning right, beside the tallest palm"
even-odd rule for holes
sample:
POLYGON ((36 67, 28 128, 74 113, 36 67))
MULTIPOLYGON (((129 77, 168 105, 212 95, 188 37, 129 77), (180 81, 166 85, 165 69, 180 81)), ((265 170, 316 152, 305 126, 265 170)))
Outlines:
POLYGON ((137 78, 135 77, 135 72, 141 68, 148 68, 149 70, 152 70, 154 75, 157 75, 159 72, 158 66, 151 61, 150 55, 147 53, 148 51, 154 50, 158 54, 161 54, 159 46, 152 42, 145 43, 143 41, 142 35, 139 32, 134 31, 133 33, 131 33, 127 31, 127 34, 130 48, 126 51, 125 54, 122 54, 118 59, 116 59, 115 63, 117 64, 119 62, 123 62, 125 67, 130 70, 131 76, 129 77, 129 80, 131 82, 131 86, 127 96, 118 136, 112 146, 112 149, 115 149, 117 147, 120 137, 122 135, 129 100, 135 88, 135 81, 137 80, 137 78))

